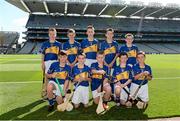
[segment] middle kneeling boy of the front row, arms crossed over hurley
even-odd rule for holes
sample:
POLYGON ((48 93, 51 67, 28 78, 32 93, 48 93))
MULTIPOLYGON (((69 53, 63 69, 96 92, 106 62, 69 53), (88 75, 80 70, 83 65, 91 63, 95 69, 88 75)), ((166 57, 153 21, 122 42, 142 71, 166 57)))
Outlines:
POLYGON ((104 91, 103 106, 108 109, 108 101, 111 98, 111 86, 108 83, 108 67, 104 65, 104 52, 97 52, 96 63, 91 64, 92 83, 91 90, 94 103, 99 103, 100 92, 104 91))

